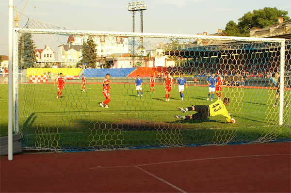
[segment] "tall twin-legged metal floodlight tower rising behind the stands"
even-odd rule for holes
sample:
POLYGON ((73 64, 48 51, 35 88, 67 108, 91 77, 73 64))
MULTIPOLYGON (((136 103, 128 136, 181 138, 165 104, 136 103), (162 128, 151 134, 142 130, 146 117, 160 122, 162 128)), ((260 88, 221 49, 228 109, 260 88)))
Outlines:
MULTIPOLYGON (((141 14, 141 24, 140 24, 140 32, 144 31, 143 27, 143 13, 146 10, 146 2, 145 1, 139 1, 139 0, 131 0, 128 3, 128 10, 132 14, 132 32, 135 32, 135 20, 134 15, 136 11, 140 11, 141 14)), ((140 38, 140 48, 143 48, 143 38, 140 38)), ((135 53, 135 38, 132 38, 132 48, 131 48, 131 55, 135 53)), ((143 51, 143 50, 142 50, 143 51)), ((141 52, 142 53, 142 52, 141 52)))

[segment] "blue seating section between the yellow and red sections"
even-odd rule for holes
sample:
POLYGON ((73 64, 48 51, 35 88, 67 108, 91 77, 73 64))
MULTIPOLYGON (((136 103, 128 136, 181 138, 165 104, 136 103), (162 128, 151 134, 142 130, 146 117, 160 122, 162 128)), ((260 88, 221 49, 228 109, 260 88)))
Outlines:
POLYGON ((84 76, 87 78, 105 77, 107 73, 110 77, 127 77, 136 68, 86 68, 84 76))

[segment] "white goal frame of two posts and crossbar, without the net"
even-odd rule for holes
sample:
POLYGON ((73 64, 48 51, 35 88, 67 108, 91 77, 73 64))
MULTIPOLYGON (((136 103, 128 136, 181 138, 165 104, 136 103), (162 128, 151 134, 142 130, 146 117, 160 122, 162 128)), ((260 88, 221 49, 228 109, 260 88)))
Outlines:
MULTIPOLYGON (((102 32, 102 31, 78 31, 78 30, 52 30, 52 29, 13 29, 13 103, 14 109, 9 112, 13 113, 14 131, 18 133, 18 36, 19 33, 33 34, 86 34, 86 35, 112 35, 112 36, 127 36, 127 37, 142 37, 142 38, 173 38, 173 39, 202 39, 202 40, 231 40, 231 41, 248 41, 248 42, 276 42, 280 44, 280 100, 279 100, 279 123, 283 125, 283 97, 284 97, 284 71, 285 71, 285 39, 279 38, 255 38, 255 37, 232 37, 232 36, 211 36, 211 35, 187 35, 187 34, 165 34, 165 33, 140 33, 140 32, 102 32)), ((10 71, 9 71, 10 72, 10 71)), ((10 81, 10 80, 9 80, 10 81)), ((11 100, 11 98, 9 98, 11 100)), ((11 120, 9 120, 11 121, 11 120)), ((8 123, 9 124, 9 123, 8 123)), ((12 138, 12 129, 8 129, 8 135, 12 138)), ((10 142, 12 143, 12 142, 10 142)), ((12 144, 11 144, 12 145, 12 144)))

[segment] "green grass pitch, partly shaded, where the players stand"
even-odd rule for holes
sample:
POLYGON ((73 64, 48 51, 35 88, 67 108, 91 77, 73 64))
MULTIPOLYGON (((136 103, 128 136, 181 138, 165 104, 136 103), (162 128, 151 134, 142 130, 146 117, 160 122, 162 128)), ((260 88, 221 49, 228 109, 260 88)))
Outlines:
MULTIPOLYGON (((155 93, 143 85, 138 97, 134 84, 111 84, 109 109, 102 84, 67 84, 61 99, 53 84, 19 84, 19 128, 23 146, 34 148, 125 147, 201 145, 290 140, 291 107, 284 109, 284 125, 278 126, 279 108, 273 107, 275 90, 223 88, 230 97, 228 113, 235 124, 219 115, 204 121, 177 120, 177 107, 211 104, 208 87, 189 86, 180 100, 178 85, 165 102, 163 85, 155 93)), ((291 102, 291 91, 285 92, 291 102)), ((214 101, 217 96, 214 95, 214 101)), ((0 84, 0 135, 7 135, 8 85, 0 84)), ((189 113, 187 113, 189 114, 189 113)))

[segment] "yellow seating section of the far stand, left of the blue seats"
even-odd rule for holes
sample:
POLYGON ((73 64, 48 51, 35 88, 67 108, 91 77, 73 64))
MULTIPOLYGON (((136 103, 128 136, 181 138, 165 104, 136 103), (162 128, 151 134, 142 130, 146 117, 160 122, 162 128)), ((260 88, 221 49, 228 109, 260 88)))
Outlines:
POLYGON ((32 75, 47 75, 50 76, 58 75, 63 73, 64 76, 78 76, 81 71, 81 68, 27 68, 26 77, 32 75))

